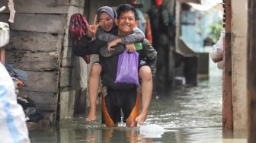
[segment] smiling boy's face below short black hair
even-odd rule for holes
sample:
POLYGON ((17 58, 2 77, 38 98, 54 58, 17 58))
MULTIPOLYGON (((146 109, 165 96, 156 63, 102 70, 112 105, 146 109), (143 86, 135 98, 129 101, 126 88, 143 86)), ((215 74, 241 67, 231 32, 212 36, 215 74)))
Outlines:
POLYGON ((139 21, 135 20, 133 11, 123 11, 116 24, 118 26, 118 35, 126 36, 133 33, 133 28, 138 26, 139 21))

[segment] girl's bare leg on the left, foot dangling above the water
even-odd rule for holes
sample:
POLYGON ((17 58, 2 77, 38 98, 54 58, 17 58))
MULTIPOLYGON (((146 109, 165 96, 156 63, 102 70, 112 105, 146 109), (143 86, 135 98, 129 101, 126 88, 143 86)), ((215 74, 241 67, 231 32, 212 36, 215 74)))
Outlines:
POLYGON ((92 122, 96 119, 96 100, 98 97, 98 88, 100 84, 101 75, 101 65, 94 63, 91 65, 91 71, 89 75, 89 100, 90 100, 90 110, 86 121, 92 122))

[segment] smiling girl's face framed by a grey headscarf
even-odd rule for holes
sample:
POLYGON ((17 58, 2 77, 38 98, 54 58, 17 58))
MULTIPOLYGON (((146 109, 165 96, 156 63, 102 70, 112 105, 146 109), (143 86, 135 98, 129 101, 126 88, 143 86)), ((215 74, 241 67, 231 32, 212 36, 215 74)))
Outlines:
POLYGON ((99 18, 101 29, 109 32, 114 27, 114 20, 106 12, 102 12, 99 18))

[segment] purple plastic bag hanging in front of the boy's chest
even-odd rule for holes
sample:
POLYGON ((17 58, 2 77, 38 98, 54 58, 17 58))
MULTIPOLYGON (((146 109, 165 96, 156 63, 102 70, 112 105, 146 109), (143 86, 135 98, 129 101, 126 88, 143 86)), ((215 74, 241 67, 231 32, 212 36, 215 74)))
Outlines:
POLYGON ((128 53, 126 49, 123 50, 118 57, 117 63, 117 78, 115 83, 128 83, 139 85, 139 53, 128 53))

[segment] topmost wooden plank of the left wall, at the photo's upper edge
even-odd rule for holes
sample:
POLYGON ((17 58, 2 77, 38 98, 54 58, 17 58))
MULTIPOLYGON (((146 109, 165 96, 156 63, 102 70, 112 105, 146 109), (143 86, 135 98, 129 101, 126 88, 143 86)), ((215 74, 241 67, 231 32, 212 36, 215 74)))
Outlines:
MULTIPOLYGON (((2 5, 8 7, 8 0, 2 0, 2 5)), ((14 1, 14 8, 19 14, 66 14, 69 0, 19 0, 14 1)), ((9 13, 8 8, 3 12, 9 13)))

